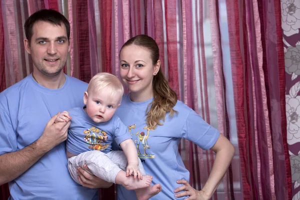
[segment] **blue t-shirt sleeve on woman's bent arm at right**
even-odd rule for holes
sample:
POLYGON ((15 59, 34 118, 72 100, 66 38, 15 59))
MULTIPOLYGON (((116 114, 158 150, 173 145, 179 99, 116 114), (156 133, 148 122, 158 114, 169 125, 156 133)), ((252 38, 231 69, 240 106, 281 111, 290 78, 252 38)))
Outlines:
POLYGON ((181 137, 188 139, 204 150, 211 148, 220 132, 206 123, 194 110, 190 110, 183 125, 181 137))

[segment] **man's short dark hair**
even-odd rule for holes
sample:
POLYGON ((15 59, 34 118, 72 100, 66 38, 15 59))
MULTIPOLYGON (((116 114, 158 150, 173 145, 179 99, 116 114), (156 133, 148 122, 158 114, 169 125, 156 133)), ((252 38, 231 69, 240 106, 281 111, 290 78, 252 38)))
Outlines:
POLYGON ((70 38, 70 23, 68 20, 60 13, 57 12, 56 10, 53 9, 41 9, 33 14, 31 14, 25 21, 24 23, 24 29, 25 29, 25 35, 26 38, 28 39, 28 42, 30 44, 31 37, 32 37, 32 27, 34 23, 38 21, 45 21, 49 22, 53 25, 60 25, 63 23, 66 28, 66 35, 67 39, 69 40, 70 38))

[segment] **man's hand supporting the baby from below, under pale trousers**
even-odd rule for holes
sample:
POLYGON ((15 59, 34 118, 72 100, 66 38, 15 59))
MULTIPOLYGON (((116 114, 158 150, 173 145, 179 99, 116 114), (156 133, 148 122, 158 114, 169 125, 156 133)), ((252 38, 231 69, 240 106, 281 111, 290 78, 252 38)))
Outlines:
POLYGON ((92 175, 86 171, 88 171, 89 168, 84 164, 84 169, 80 166, 78 167, 77 173, 78 173, 78 180, 79 183, 82 186, 88 187, 88 188, 108 188, 112 185, 111 182, 107 182, 105 180, 102 180, 101 178, 92 175))

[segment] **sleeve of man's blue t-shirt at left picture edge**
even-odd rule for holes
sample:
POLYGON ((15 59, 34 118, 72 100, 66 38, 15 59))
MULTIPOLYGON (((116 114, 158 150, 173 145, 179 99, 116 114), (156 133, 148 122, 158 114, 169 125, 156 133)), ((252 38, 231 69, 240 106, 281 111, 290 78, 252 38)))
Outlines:
POLYGON ((0 108, 0 155, 16 150, 16 134, 9 113, 0 108))

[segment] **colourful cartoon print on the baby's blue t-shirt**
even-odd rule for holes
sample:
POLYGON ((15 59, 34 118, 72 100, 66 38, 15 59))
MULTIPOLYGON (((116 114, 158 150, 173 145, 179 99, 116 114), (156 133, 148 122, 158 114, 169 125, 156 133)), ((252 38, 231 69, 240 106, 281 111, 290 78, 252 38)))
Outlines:
POLYGON ((104 150, 109 146, 109 143, 105 143, 105 140, 108 139, 108 136, 104 130, 92 126, 83 132, 85 134, 84 141, 88 144, 89 149, 104 150))

